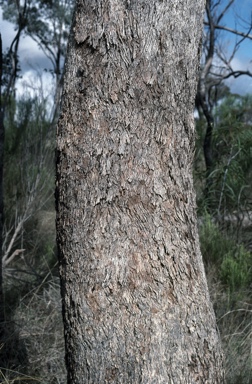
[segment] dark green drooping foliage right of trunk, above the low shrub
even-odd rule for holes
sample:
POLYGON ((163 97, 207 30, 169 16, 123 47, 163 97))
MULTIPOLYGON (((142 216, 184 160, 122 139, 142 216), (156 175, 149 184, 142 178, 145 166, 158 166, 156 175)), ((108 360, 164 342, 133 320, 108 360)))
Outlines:
POLYGON ((204 196, 205 165, 202 154, 204 120, 197 122, 195 179, 199 208, 211 207, 224 214, 247 207, 251 201, 252 96, 229 95, 215 107, 212 152, 214 166, 208 176, 207 201, 204 196))

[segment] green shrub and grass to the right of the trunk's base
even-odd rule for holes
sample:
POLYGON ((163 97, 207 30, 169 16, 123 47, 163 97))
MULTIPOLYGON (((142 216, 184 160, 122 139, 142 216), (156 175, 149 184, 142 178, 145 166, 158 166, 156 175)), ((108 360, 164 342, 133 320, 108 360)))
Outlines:
POLYGON ((226 384, 251 384, 251 252, 223 234, 208 217, 201 224, 200 237, 225 354, 226 384))

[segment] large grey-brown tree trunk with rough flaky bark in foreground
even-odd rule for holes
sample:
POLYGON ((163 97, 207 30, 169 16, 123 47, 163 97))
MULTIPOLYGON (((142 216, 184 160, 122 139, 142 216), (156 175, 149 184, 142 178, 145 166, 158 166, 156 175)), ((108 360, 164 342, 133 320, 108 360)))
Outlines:
POLYGON ((68 383, 223 383, 191 170, 203 8, 77 1, 57 133, 68 383))

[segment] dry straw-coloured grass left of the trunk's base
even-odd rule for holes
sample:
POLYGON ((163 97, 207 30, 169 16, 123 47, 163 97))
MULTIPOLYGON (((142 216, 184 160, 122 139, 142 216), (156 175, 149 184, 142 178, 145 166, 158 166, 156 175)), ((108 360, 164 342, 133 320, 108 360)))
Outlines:
MULTIPOLYGON (((53 278, 26 295, 15 311, 15 332, 25 353, 25 367, 1 371, 3 383, 66 383, 59 281, 53 278), (25 372, 25 373, 23 373, 25 372), (28 373, 28 375, 26 374, 28 373)), ((14 346, 12 346, 13 348, 14 346)))

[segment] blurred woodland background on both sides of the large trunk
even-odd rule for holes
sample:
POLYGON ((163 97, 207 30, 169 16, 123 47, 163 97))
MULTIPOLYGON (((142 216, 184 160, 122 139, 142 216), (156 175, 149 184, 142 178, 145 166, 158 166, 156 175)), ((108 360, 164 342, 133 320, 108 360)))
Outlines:
MULTIPOLYGON (((234 93, 228 80, 252 78, 248 69, 233 68, 242 46, 252 47, 252 7, 244 17, 238 3, 206 3, 195 100, 194 182, 201 250, 226 356, 227 383, 249 384, 252 94, 249 88, 234 93)), ((2 383, 66 382, 54 148, 73 6, 73 0, 0 1, 3 18, 15 28, 7 49, 0 46, 2 383), (24 36, 38 44, 51 65, 32 68, 33 75, 21 87, 19 47, 24 36)))

